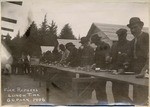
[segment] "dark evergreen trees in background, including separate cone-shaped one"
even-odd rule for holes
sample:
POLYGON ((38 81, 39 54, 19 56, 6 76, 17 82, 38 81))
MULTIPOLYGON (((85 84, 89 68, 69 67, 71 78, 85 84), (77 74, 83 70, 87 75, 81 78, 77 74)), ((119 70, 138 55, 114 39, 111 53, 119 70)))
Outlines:
MULTIPOLYGON (((40 46, 55 46, 55 48, 58 46, 57 28, 53 20, 48 24, 47 16, 45 15, 40 28, 37 27, 35 22, 32 22, 22 37, 20 37, 20 32, 18 31, 16 37, 12 40, 7 35, 5 42, 11 47, 14 56, 21 57, 22 53, 41 56, 40 46)), ((69 24, 63 27, 59 38, 76 39, 69 24)))

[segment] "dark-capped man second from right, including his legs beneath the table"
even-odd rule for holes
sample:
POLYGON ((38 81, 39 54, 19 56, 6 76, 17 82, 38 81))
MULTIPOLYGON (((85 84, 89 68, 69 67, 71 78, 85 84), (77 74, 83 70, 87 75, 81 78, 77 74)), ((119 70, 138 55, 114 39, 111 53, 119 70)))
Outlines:
MULTIPOLYGON (((117 30, 116 34, 118 36, 118 42, 113 44, 110 51, 110 56, 112 58, 111 69, 117 70, 118 73, 123 73, 124 71, 128 71, 128 65, 130 63, 130 44, 126 39, 126 29, 121 28, 117 30)), ((129 84, 117 81, 112 81, 112 83, 112 92, 115 103, 131 103, 131 99, 128 96, 129 84)))

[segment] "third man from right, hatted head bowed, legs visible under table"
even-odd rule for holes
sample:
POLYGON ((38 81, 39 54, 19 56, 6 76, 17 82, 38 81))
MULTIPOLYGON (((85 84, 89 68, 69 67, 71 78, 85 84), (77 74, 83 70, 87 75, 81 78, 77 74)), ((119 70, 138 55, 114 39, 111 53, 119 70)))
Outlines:
MULTIPOLYGON (((96 68, 106 69, 107 68, 107 57, 109 56, 110 46, 101 41, 101 37, 95 34, 91 37, 91 43, 94 43, 97 48, 95 50, 94 63, 96 68)), ((106 94, 106 80, 98 79, 94 83, 94 88, 96 91, 96 97, 99 104, 107 104, 107 94, 106 94)))

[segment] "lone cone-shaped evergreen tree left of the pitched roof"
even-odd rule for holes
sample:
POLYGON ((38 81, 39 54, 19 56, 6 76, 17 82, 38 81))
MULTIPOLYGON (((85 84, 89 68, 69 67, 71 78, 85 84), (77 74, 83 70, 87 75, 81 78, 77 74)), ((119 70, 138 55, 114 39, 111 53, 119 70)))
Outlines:
POLYGON ((60 39, 76 39, 73 35, 72 28, 66 24, 60 32, 60 39))

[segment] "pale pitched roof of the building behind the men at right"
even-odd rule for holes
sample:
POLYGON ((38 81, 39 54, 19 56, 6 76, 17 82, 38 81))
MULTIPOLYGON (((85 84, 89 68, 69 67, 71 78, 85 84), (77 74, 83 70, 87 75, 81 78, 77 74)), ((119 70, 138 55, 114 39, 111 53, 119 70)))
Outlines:
MULTIPOLYGON (((120 28, 127 29, 127 39, 132 40, 133 35, 130 32, 130 29, 126 25, 115 25, 115 24, 104 24, 104 23, 93 23, 91 25, 90 30, 88 31, 87 37, 97 32, 103 32, 107 35, 107 37, 112 41, 117 41, 117 34, 116 31, 120 28)), ((144 27, 143 31, 148 32, 148 28, 144 27)))

